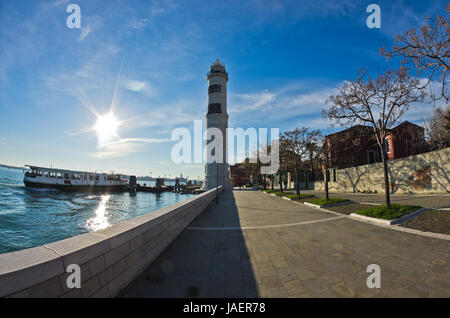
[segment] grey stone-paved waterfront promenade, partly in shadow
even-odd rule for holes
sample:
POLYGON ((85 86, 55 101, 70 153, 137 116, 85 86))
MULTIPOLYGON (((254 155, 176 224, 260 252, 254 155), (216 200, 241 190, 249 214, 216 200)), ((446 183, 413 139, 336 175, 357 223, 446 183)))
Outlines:
POLYGON ((234 190, 119 297, 450 297, 449 264, 450 241, 234 190))

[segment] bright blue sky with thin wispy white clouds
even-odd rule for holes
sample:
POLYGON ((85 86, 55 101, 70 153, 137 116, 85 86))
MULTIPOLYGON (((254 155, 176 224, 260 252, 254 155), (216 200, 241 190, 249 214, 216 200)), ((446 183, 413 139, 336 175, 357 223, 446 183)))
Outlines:
MULTIPOLYGON (((206 72, 230 75, 231 127, 327 133, 324 101, 361 67, 398 66, 379 56, 445 1, 0 0, 0 163, 152 176, 203 176, 170 160, 176 127, 205 120, 206 72), (81 28, 66 7, 81 8, 81 28), (366 7, 381 8, 381 28, 366 7), (121 143, 99 148, 92 131, 112 101, 121 143)), ((420 123, 432 105, 413 105, 420 123)))

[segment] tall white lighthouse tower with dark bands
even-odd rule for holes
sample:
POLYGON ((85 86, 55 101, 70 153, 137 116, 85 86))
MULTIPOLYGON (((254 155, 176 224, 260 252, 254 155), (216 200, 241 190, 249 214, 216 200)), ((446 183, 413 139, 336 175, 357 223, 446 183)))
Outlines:
MULTIPOLYGON (((225 65, 219 60, 216 60, 211 64, 206 80, 208 81, 208 113, 206 114, 206 128, 218 128, 222 132, 223 160, 219 163, 206 163, 203 190, 210 190, 218 185, 228 188, 230 185, 227 163, 228 73, 225 71, 225 65)), ((211 142, 211 140, 207 140, 207 144, 209 142, 211 142)))

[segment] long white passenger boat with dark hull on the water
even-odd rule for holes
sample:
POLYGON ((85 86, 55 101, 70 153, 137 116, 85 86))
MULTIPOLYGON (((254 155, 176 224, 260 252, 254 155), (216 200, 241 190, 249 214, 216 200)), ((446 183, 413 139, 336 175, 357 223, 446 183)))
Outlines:
POLYGON ((126 191, 128 180, 120 174, 54 169, 26 165, 23 183, 32 188, 64 191, 126 191))

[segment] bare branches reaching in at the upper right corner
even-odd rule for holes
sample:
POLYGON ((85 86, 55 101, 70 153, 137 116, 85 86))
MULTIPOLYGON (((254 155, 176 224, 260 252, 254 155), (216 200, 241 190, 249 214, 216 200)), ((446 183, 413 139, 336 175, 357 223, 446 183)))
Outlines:
MULTIPOLYGON (((447 4, 447 14, 450 12, 450 4, 447 4)), ((419 32, 415 29, 397 35, 391 51, 380 49, 380 54, 386 58, 403 57, 402 64, 415 68, 417 76, 425 76, 427 81, 420 88, 430 87, 433 79, 441 83, 438 97, 433 93, 432 99, 444 98, 447 102, 447 72, 450 57, 450 30, 447 17, 436 15, 435 18, 426 18, 425 24, 419 32)))

